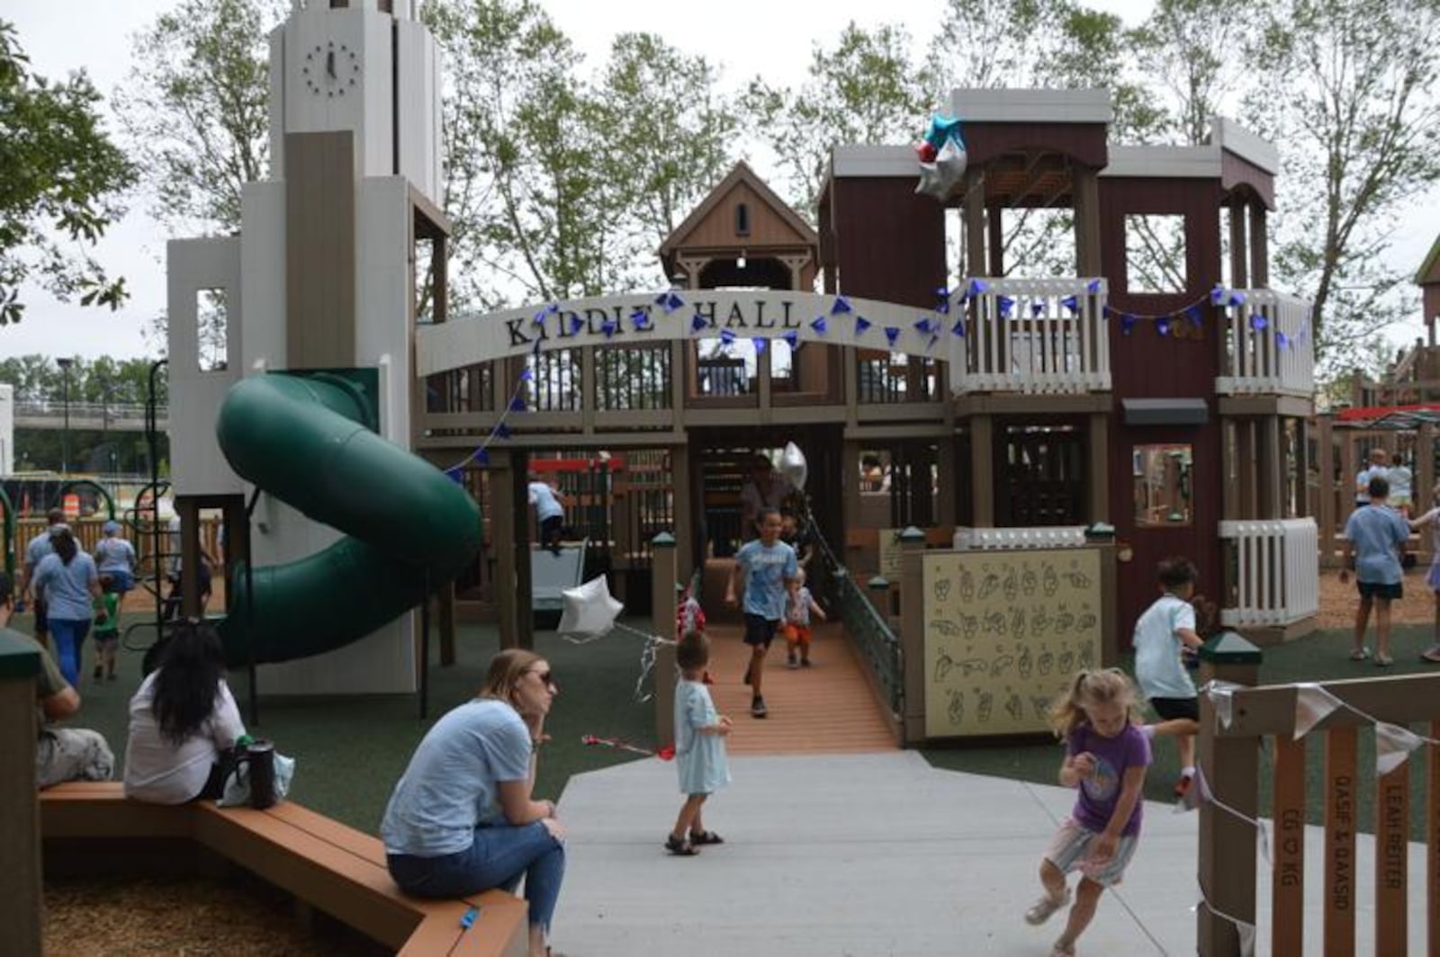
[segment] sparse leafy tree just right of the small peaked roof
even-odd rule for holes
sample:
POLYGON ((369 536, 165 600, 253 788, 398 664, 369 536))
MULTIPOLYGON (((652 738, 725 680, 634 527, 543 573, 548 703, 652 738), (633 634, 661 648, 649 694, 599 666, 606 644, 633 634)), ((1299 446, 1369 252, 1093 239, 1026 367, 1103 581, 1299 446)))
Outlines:
POLYGON ((791 204, 811 222, 835 145, 906 142, 923 132, 932 102, 909 45, 903 27, 871 32, 851 22, 834 50, 815 46, 799 89, 750 81, 742 99, 750 127, 779 157, 791 204))

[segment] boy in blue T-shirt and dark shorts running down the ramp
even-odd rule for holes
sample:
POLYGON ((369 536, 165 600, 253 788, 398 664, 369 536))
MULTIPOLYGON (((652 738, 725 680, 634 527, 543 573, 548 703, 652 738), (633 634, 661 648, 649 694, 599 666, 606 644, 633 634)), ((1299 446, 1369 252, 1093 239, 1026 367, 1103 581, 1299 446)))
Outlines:
POLYGON ((785 607, 796 587, 799 563, 795 550, 780 541, 780 509, 762 508, 756 518, 760 537, 744 543, 734 553, 734 570, 724 591, 726 604, 736 606, 744 580, 744 643, 750 646, 750 666, 744 684, 750 685, 750 715, 769 714, 760 685, 765 679, 765 655, 785 617, 785 607))

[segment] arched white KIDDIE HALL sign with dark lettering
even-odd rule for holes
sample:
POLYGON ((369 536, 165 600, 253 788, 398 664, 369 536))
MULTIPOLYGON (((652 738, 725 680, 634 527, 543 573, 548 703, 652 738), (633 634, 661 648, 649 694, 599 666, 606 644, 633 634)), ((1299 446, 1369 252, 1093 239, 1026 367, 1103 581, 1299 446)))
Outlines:
POLYGON ((582 345, 668 340, 788 340, 932 353, 946 358, 948 317, 876 299, 772 289, 674 291, 549 302, 456 317, 416 331, 416 374, 582 345))

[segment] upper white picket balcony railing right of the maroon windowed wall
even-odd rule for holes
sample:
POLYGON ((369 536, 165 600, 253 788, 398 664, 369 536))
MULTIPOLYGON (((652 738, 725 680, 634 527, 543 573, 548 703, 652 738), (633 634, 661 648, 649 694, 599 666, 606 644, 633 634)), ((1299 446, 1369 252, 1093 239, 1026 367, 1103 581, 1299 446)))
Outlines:
POLYGON ((1233 289, 1221 305, 1221 396, 1315 396, 1310 304, 1273 289, 1233 289))

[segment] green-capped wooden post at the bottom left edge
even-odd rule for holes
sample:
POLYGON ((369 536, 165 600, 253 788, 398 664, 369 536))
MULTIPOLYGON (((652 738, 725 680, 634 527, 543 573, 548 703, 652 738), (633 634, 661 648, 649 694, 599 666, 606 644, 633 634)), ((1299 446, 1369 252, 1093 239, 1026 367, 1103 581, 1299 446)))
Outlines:
POLYGON ((35 781, 35 678, 40 649, 0 630, 0 940, 16 957, 40 957, 40 802, 35 781))

